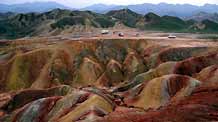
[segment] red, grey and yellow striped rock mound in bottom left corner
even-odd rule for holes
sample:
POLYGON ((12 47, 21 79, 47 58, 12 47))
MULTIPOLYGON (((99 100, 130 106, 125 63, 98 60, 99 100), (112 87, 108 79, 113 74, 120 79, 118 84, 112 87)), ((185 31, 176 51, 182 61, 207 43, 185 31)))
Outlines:
MULTIPOLYGON (((44 95, 41 98, 38 95, 38 99, 35 100, 34 98, 26 99, 22 103, 17 103, 16 106, 13 104, 14 106, 11 106, 13 108, 3 106, 1 110, 5 111, 5 115, 0 120, 8 122, 95 121, 112 112, 115 107, 112 97, 108 97, 110 95, 101 90, 94 92, 96 90, 72 89, 67 94, 57 93, 50 97, 46 94, 49 94, 51 90, 35 91, 36 93, 44 92, 44 95)), ((23 92, 31 93, 29 91, 23 92)), ((21 95, 19 97, 21 98, 21 95)), ((14 99, 12 99, 13 102, 15 102, 14 99)), ((17 102, 21 102, 21 100, 17 102)), ((12 104, 9 102, 9 105, 12 104)))

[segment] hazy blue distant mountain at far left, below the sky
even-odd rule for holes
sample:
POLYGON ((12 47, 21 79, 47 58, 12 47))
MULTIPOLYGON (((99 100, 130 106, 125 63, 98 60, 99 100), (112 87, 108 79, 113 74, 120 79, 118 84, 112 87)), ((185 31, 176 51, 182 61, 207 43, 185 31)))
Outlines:
POLYGON ((29 12, 47 12, 53 9, 71 9, 56 2, 32 2, 23 4, 0 4, 0 13, 14 12, 14 13, 29 13, 29 12))

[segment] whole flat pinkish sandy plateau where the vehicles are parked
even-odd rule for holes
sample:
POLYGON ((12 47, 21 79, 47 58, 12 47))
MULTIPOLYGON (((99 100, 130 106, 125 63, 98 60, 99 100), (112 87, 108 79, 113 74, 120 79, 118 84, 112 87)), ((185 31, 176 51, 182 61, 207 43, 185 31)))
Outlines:
MULTIPOLYGON (((120 27, 119 27, 120 28, 120 27)), ((41 36, 41 37, 26 37, 18 39, 18 41, 34 42, 40 40, 41 43, 49 42, 60 43, 64 41, 92 41, 101 39, 145 39, 152 43, 158 43, 160 45, 176 46, 176 47, 193 47, 193 46, 218 46, 218 40, 199 39, 199 36, 205 36, 202 34, 189 34, 189 33, 163 33, 152 31, 140 31, 132 28, 110 28, 108 34, 101 34, 101 30, 95 32, 84 32, 80 35, 77 33, 59 36, 41 36), (124 37, 119 37, 118 34, 122 32, 124 37), (169 39, 169 35, 175 35, 176 39, 169 39), (30 41, 31 40, 31 41, 30 41)), ((0 40, 2 43, 4 40, 0 40)), ((0 44, 1 44, 0 43, 0 44)))

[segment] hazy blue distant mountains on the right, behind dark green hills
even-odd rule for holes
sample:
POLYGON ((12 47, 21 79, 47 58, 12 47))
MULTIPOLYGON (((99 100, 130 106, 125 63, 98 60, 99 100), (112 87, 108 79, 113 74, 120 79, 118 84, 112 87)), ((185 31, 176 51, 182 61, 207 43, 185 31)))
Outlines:
POLYGON ((160 16, 169 15, 176 16, 180 18, 190 17, 199 12, 215 13, 218 12, 218 5, 215 4, 205 4, 204 6, 195 6, 190 4, 137 4, 137 5, 128 5, 128 6, 119 6, 119 5, 104 5, 104 4, 95 4, 81 10, 91 10, 98 13, 107 13, 111 10, 119 10, 128 8, 139 14, 147 14, 149 12, 156 13, 160 16))

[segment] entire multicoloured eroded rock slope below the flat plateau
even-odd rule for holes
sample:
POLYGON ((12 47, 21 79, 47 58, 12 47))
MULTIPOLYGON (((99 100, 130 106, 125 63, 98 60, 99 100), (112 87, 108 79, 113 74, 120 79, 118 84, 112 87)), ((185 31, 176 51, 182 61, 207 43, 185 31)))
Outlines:
POLYGON ((218 43, 173 41, 2 42, 0 121, 217 121, 218 43))

